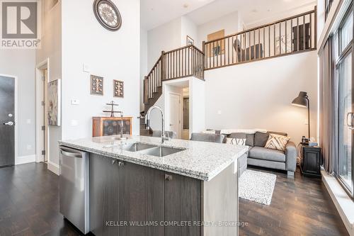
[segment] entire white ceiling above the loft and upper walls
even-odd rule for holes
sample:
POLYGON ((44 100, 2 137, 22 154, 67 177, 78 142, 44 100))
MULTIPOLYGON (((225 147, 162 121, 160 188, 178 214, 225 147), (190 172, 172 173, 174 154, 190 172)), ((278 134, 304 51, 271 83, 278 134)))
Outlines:
POLYGON ((201 25, 234 11, 247 25, 314 4, 316 0, 142 0, 142 28, 150 30, 184 15, 201 25))

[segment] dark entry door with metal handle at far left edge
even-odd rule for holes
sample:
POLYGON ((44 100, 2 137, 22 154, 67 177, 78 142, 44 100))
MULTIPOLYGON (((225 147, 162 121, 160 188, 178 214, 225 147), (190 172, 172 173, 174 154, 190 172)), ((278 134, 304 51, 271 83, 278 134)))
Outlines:
POLYGON ((0 167, 16 159, 16 77, 0 74, 0 167))

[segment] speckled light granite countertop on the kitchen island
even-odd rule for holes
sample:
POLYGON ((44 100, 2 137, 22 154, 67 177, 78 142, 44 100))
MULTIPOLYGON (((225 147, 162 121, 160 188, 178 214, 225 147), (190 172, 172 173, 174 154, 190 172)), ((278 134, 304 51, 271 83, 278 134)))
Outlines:
POLYGON ((202 181, 210 181, 248 150, 246 146, 212 142, 173 139, 161 144, 160 137, 129 136, 127 140, 123 141, 115 140, 115 137, 119 136, 64 140, 59 141, 59 145, 141 164, 166 172, 190 176, 202 181), (149 154, 129 152, 120 148, 122 144, 134 142, 161 147, 174 147, 183 151, 169 154, 166 157, 154 157, 149 154))

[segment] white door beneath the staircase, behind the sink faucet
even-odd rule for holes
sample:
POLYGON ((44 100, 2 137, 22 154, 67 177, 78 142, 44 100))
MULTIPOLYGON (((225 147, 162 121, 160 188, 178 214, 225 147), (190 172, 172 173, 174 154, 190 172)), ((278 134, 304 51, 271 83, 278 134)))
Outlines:
POLYGON ((169 130, 176 132, 177 138, 181 134, 181 95, 170 94, 169 96, 169 130))

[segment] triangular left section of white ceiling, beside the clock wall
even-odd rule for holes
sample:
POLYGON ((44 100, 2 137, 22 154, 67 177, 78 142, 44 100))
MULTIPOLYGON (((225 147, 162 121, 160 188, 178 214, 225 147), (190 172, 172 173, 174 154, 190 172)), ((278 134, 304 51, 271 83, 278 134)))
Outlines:
POLYGON ((142 28, 151 30, 215 0, 142 0, 142 28))

